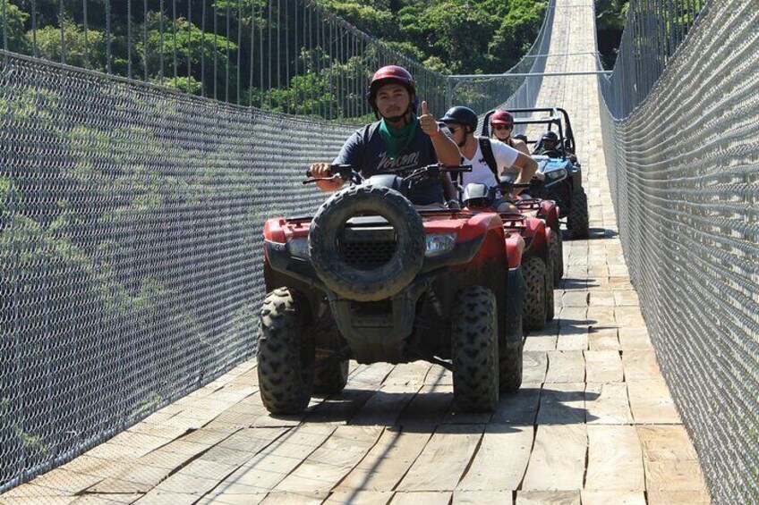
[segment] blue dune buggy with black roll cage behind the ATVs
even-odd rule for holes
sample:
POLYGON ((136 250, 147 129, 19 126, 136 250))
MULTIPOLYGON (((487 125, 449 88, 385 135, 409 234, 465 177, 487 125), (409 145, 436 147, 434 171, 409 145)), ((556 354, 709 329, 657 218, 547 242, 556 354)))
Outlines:
MULTIPOLYGON (((490 136, 490 115, 495 112, 485 114, 482 135, 490 136)), ((551 156, 533 155, 538 162, 538 172, 543 173, 545 177, 542 181, 533 181, 533 186, 528 192, 536 198, 550 198, 556 201, 560 217, 567 218, 567 230, 572 238, 587 238, 588 198, 583 189, 582 167, 576 161, 575 136, 569 122, 569 114, 559 107, 509 109, 508 112, 514 115, 515 133, 519 130, 519 133, 523 134, 527 145, 533 146, 533 153, 541 151, 542 139, 541 135, 532 139, 524 136, 527 126, 545 125, 545 130, 557 132, 559 142, 556 152, 551 156)))

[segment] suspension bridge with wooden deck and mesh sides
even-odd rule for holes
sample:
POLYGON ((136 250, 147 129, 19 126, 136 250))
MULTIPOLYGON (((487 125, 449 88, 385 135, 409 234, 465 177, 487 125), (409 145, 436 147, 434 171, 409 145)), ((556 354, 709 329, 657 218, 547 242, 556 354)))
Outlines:
POLYGON ((0 503, 759 503, 752 2, 631 2, 607 75, 593 4, 554 0, 524 59, 478 78, 308 2, 277 2, 293 24, 274 36, 254 4, 250 24, 227 6, 226 29, 213 4, 220 45, 201 39, 191 62, 170 42, 206 3, 183 4, 184 23, 171 4, 166 40, 108 25, 102 68, 94 50, 67 59, 64 23, 57 62, 41 30, 21 51, 4 27, 0 503), (130 53, 116 72, 120 32, 159 61, 130 53), (230 73, 235 32, 256 50, 230 73), (352 363, 345 391, 272 417, 254 358, 261 223, 320 204, 303 167, 366 119, 383 63, 408 66, 438 115, 566 108, 591 236, 565 242, 557 317, 526 335, 522 388, 495 413, 453 412, 439 366, 352 363), (311 99, 310 72, 334 78, 328 98, 311 99))

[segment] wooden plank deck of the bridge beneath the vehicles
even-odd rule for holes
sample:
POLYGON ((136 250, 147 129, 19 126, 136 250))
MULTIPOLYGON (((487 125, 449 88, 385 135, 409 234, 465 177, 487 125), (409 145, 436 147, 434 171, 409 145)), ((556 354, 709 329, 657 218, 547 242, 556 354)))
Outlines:
MULTIPOLYGON (((558 8, 550 52, 595 50, 590 4, 558 8)), ((566 70, 593 57, 549 59, 566 70)), ((527 336, 523 387, 494 414, 452 414, 450 374, 418 362, 352 364, 341 395, 270 417, 249 361, 0 503, 709 503, 627 274, 598 99, 593 76, 542 81, 538 104, 571 114, 592 236, 565 243, 557 318, 527 336)))

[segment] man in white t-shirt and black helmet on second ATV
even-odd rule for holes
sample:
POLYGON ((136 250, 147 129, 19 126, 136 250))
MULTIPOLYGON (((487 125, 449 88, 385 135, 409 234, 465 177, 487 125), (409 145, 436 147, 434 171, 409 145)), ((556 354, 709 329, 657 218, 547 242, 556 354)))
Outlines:
MULTIPOLYGON (((489 188, 497 186, 501 175, 513 175, 516 184, 526 184, 532 179, 538 164, 532 157, 487 137, 475 137, 477 129, 477 114, 465 106, 455 106, 440 118, 448 125, 454 142, 461 149, 463 164, 471 164, 471 173, 462 173, 462 187, 470 183, 485 184, 489 188)), ((515 189, 518 194, 521 189, 515 189)), ((493 210, 499 212, 515 211, 504 199, 498 199, 493 204, 493 210)))

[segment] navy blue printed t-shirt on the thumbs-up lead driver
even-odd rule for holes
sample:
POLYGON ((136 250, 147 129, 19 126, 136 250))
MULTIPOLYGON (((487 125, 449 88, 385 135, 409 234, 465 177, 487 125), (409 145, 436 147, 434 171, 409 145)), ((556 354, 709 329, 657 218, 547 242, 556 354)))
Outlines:
MULTIPOLYGON (((444 127, 441 127, 444 128, 444 127)), ((447 130, 444 133, 448 134, 447 130)), ((396 159, 388 156, 388 147, 379 134, 379 121, 357 130, 347 140, 333 164, 350 164, 361 171, 363 177, 371 177, 390 170, 414 169, 438 163, 435 147, 430 136, 417 125, 414 137, 396 159)), ((414 205, 443 203, 443 187, 440 179, 430 179, 415 185, 409 195, 414 205)))

